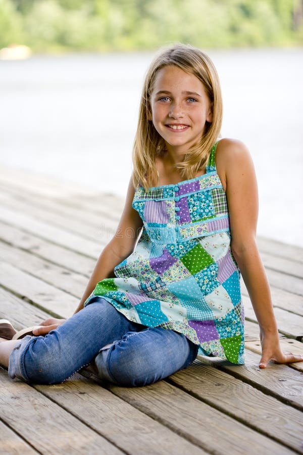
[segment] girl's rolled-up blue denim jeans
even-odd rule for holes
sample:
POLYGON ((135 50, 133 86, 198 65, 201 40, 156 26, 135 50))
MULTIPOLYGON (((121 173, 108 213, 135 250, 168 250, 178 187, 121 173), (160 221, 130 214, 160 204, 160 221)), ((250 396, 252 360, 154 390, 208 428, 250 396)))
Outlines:
POLYGON ((56 384, 94 362, 103 380, 143 386, 186 368, 197 350, 184 335, 131 322, 96 297, 45 337, 21 339, 10 355, 9 376, 56 384))

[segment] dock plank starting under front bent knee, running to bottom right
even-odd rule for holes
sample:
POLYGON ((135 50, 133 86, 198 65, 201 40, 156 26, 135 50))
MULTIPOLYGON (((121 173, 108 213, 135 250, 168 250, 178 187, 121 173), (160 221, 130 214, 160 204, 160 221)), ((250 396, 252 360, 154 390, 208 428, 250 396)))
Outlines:
POLYGON ((109 389, 211 453, 292 453, 288 448, 165 381, 137 389, 114 385, 109 385, 109 389))

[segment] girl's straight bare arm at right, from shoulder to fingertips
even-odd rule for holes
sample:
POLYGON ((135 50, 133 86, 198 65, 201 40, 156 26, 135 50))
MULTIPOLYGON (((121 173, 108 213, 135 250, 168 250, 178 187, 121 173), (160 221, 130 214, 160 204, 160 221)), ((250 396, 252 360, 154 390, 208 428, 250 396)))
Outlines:
POLYGON ((216 164, 222 184, 226 186, 232 253, 260 326, 262 358, 259 366, 266 368, 271 359, 278 363, 303 360, 303 356, 281 351, 270 288, 256 244, 258 188, 249 152, 242 143, 223 139, 217 146, 216 164))

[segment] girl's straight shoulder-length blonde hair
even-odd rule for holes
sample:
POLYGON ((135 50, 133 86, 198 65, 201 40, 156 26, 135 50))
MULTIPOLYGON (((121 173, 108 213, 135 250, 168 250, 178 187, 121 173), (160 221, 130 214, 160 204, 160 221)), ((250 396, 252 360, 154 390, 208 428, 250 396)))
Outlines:
POLYGON ((133 147, 134 187, 143 186, 145 190, 155 185, 159 174, 156 156, 165 150, 165 142, 150 118, 150 96, 157 73, 165 66, 174 65, 186 73, 196 76, 204 85, 211 102, 213 120, 206 122, 205 132, 199 144, 191 147, 181 163, 176 164, 182 178, 195 177, 207 165, 210 151, 221 130, 223 103, 219 77, 211 59, 199 49, 187 44, 175 44, 162 49, 147 70, 139 108, 138 126, 133 147))

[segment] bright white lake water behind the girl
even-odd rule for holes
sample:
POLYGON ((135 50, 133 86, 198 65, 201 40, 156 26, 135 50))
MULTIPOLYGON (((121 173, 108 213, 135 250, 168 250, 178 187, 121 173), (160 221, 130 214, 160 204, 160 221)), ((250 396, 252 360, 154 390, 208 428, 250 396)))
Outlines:
MULTIPOLYGON (((222 136, 254 159, 258 234, 303 246, 303 49, 208 53, 222 84, 222 136)), ((152 55, 0 61, 0 160, 124 196, 152 55)))

